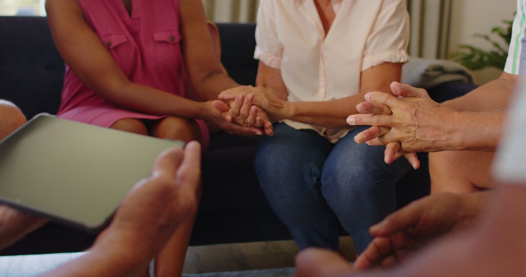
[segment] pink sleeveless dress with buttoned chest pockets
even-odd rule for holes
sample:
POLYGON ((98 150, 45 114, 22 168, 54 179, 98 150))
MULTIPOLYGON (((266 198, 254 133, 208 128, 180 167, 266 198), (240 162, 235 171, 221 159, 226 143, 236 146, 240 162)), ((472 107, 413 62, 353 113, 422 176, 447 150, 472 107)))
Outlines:
MULTIPOLYGON (((186 97, 181 54, 179 0, 133 0, 131 17, 122 0, 78 0, 88 25, 132 82, 186 97)), ((157 120, 167 115, 117 108, 78 79, 66 65, 59 118, 109 127, 125 118, 157 120)), ((206 149, 205 122, 195 120, 206 149)))

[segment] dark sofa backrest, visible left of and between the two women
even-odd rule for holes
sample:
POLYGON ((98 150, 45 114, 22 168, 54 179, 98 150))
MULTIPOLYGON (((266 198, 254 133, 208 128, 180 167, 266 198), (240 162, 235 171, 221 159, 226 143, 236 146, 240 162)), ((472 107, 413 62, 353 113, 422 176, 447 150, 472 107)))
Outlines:
MULTIPOLYGON (((219 23, 221 62, 240 84, 254 84, 255 24, 219 23)), ((0 99, 18 105, 26 117, 55 114, 60 104, 64 61, 45 17, 0 16, 0 99)))

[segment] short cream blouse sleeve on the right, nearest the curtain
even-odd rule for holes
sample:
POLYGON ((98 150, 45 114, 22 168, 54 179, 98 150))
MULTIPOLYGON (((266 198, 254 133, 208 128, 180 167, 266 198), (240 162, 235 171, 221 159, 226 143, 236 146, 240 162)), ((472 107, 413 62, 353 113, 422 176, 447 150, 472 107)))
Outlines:
POLYGON ((367 37, 361 70, 384 62, 407 62, 409 13, 403 0, 384 1, 367 37))

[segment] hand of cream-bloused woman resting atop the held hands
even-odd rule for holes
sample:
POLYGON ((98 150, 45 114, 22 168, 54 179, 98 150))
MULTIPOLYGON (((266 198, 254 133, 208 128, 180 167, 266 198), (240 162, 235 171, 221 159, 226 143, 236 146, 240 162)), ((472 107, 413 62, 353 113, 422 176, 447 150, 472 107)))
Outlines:
POLYGON ((252 104, 265 110, 272 120, 279 121, 286 119, 290 113, 288 101, 279 97, 275 90, 266 87, 245 86, 225 90, 219 94, 219 99, 223 101, 233 101, 236 100, 238 95, 248 98, 249 94, 254 95, 252 104))

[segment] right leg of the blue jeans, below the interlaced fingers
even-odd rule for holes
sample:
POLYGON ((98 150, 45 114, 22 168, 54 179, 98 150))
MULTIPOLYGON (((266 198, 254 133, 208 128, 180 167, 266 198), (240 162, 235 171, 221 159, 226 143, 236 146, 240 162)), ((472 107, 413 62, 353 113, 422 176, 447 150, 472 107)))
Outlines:
POLYGON ((352 130, 335 145, 321 178, 323 196, 359 252, 372 239, 369 227, 395 210, 395 183, 411 168, 407 161, 386 164, 385 146, 357 144, 354 136, 365 129, 352 130))

